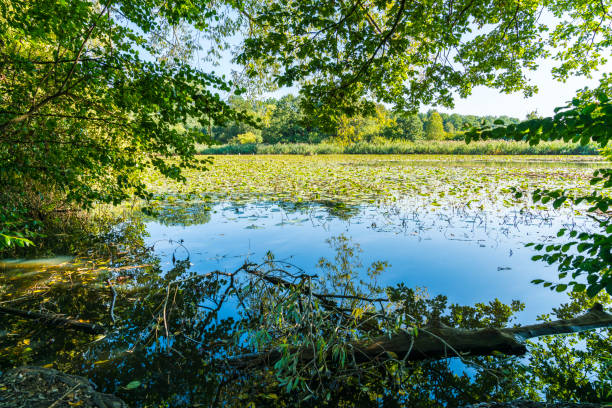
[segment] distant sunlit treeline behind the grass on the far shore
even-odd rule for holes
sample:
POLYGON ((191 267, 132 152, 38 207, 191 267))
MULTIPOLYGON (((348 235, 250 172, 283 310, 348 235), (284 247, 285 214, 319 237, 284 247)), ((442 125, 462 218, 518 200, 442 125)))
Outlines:
POLYGON ((475 116, 447 114, 429 110, 427 113, 397 113, 378 104, 372 115, 348 117, 337 115, 329 119, 325 129, 317 126, 317 118, 303 108, 299 97, 288 94, 279 99, 245 99, 235 96, 229 105, 256 118, 257 124, 232 121, 224 126, 204 129, 212 139, 222 144, 249 143, 321 143, 338 145, 386 140, 463 140, 466 128, 491 126, 496 121, 517 124, 508 116, 475 116))

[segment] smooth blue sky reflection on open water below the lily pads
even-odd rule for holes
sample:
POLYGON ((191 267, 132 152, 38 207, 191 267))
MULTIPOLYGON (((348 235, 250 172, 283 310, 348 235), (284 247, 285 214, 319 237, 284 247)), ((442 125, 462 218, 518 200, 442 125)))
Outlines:
POLYGON ((549 239, 563 226, 589 225, 569 210, 520 213, 490 206, 482 211, 417 207, 410 201, 361 207, 342 219, 346 213, 321 205, 289 210, 271 203, 221 203, 212 206, 206 224, 149 222, 147 243, 155 242, 164 268, 171 266, 173 252, 177 259, 184 257, 185 251, 169 242, 182 239, 196 271, 234 270, 247 257, 258 262, 272 251, 277 259, 317 273, 316 262, 334 256, 325 241, 344 234, 363 249, 365 266, 377 260, 391 264, 379 278, 385 286, 426 287, 431 295, 444 294, 459 304, 519 299, 526 304, 519 320, 527 323, 567 297, 530 283, 554 280, 556 266, 531 261, 535 252, 524 244, 549 239))

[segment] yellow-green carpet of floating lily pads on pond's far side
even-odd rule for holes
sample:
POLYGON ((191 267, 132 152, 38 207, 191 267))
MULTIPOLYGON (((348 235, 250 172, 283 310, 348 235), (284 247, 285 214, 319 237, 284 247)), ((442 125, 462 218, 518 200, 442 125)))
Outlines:
MULTIPOLYGON (((317 202, 338 211, 351 206, 420 197, 432 207, 503 205, 537 210, 507 188, 584 190, 593 158, 553 156, 217 156, 209 170, 188 171, 185 183, 150 175, 159 207, 201 201, 317 202), (330 204, 331 203, 331 204, 330 204), (342 207, 346 207, 342 209, 342 207)), ((151 203, 149 204, 151 205, 151 203)), ((182 205, 182 204, 181 204, 182 205)))

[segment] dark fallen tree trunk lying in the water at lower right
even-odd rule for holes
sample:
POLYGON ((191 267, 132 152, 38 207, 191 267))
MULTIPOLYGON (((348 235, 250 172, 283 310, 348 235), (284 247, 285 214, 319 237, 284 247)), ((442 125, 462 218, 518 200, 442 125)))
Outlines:
MULTIPOLYGON (((398 359, 418 361, 459 356, 485 356, 496 353, 520 356, 527 352, 524 341, 553 334, 568 334, 612 327, 612 314, 596 303, 588 312, 573 319, 556 320, 511 328, 456 329, 444 325, 423 327, 418 335, 406 331, 380 336, 351 344, 357 363, 373 360, 398 359)), ((299 352, 303 362, 314 358, 314 350, 299 352)), ((234 367, 247 368, 272 365, 282 357, 277 350, 237 356, 230 361, 234 367)))

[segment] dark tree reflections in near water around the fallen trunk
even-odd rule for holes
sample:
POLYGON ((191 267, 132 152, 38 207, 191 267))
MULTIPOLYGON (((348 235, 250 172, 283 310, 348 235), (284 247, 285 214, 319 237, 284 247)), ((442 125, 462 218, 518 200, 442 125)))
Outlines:
MULTIPOLYGON (((424 336, 427 327, 440 324, 504 327, 522 305, 494 300, 460 306, 403 285, 385 290, 375 279, 384 263, 371 265, 371 279, 360 282, 359 248, 343 236, 330 241, 336 257, 321 260, 319 276, 272 256, 233 272, 196 274, 188 261, 164 273, 154 254, 130 247, 143 231, 125 225, 105 260, 32 274, 27 285, 18 276, 3 276, 2 301, 13 307, 102 323, 108 332, 94 339, 5 318, 1 367, 53 363, 89 376, 101 391, 134 406, 433 407, 539 398, 542 392, 551 399, 593 401, 610 390, 601 365, 612 349, 606 330, 539 341, 528 361, 463 356, 460 363, 402 362, 391 353, 361 361, 355 341, 401 330, 424 336), (107 279, 117 293, 114 324, 107 279), (10 290, 16 284, 19 293, 10 290), (567 347, 574 338, 585 340, 584 348, 567 347), (298 358, 297 350, 309 349, 316 350, 309 360, 298 358), (269 350, 281 353, 269 365, 249 359, 269 350), (132 381, 141 385, 126 390, 132 381)), ((589 303, 576 296, 557 313, 575 316, 589 303)))

